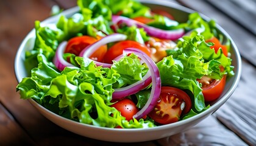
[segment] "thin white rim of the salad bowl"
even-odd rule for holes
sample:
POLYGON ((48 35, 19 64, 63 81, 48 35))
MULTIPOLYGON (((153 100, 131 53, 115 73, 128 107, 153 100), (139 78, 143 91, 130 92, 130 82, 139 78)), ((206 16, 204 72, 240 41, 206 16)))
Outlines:
MULTIPOLYGON (((194 10, 191 10, 191 9, 187 8, 187 7, 184 7, 182 5, 179 5, 179 4, 170 2, 170 1, 141 0, 140 2, 146 3, 146 4, 154 4, 154 5, 170 7, 171 9, 177 9, 177 10, 183 11, 185 13, 196 12, 194 10)), ((72 15, 75 12, 77 12, 78 10, 79 10, 79 7, 76 6, 76 7, 73 7, 71 9, 64 10, 62 12, 62 15, 65 15, 65 16, 72 15)), ((199 12, 197 12, 197 13, 199 13, 199 12)), ((210 19, 207 16, 203 15, 202 13, 199 13, 199 15, 201 15, 202 18, 204 18, 207 21, 210 19)), ((41 24, 43 25, 43 24, 55 23, 58 18, 59 18, 59 16, 51 16, 47 19, 44 19, 44 21, 41 21, 41 24)), ((240 56, 240 53, 238 51, 238 48, 236 47, 236 44, 234 43, 234 41, 232 40, 230 35, 226 32, 226 30, 224 30, 218 24, 216 24, 216 27, 217 27, 218 30, 221 31, 221 33, 223 33, 227 38, 229 38, 230 43, 232 44, 232 50, 233 50, 232 55, 234 55, 233 57, 236 58, 236 68, 234 70, 235 75, 233 76, 233 78, 235 78, 235 80, 232 83, 232 86, 230 86, 230 89, 226 92, 226 94, 224 96, 221 97, 221 99, 218 100, 218 102, 216 102, 215 104, 210 106, 210 108, 208 108, 204 112, 202 112, 200 114, 197 114, 196 116, 190 117, 190 118, 185 119, 185 120, 180 120, 179 122, 170 123, 170 124, 167 124, 167 125, 161 125, 161 126, 152 127, 152 128, 132 128, 132 129, 107 128, 107 127, 97 127, 97 126, 89 125, 89 124, 86 124, 86 123, 76 122, 76 121, 71 120, 71 119, 66 119, 65 117, 59 116, 58 114, 55 114, 52 111, 49 111, 49 109, 44 108, 43 106, 41 106, 40 104, 38 104, 37 102, 35 102, 32 99, 29 99, 29 101, 30 101, 30 103, 32 103, 32 105, 38 106, 38 108, 41 108, 41 110, 43 110, 44 112, 47 112, 49 114, 54 114, 54 116, 57 116, 57 118, 60 118, 62 120, 68 120, 68 122, 75 123, 77 125, 83 125, 83 126, 88 127, 88 128, 95 128, 96 130, 104 130, 104 131, 107 130, 107 131, 113 131, 113 132, 116 132, 116 133, 119 133, 119 131, 125 131, 125 132, 128 132, 128 133, 133 133, 133 132, 141 131, 141 129, 143 129, 143 131, 148 131, 148 132, 149 131, 155 131, 155 130, 159 131, 159 130, 169 129, 169 128, 177 127, 179 125, 185 125, 186 123, 193 122, 196 119, 200 119, 201 117, 207 116, 207 114, 210 115, 210 113, 214 113, 219 107, 221 107, 229 99, 229 97, 233 94, 233 92, 235 91, 235 88, 238 85, 238 82, 239 82, 240 77, 241 77, 241 66, 242 65, 241 65, 241 56, 240 56)), ((35 29, 32 29, 27 34, 27 36, 21 42, 20 47, 18 48, 18 51, 16 52, 15 64, 14 65, 15 65, 15 77, 16 77, 16 80, 18 81, 18 83, 20 83, 21 80, 23 79, 22 75, 20 75, 20 73, 19 73, 19 61, 20 61, 19 58, 21 58, 22 53, 24 51, 23 48, 26 45, 26 42, 33 35, 33 33, 35 33, 35 29)), ((179 132, 182 132, 182 131, 179 131, 179 132)))

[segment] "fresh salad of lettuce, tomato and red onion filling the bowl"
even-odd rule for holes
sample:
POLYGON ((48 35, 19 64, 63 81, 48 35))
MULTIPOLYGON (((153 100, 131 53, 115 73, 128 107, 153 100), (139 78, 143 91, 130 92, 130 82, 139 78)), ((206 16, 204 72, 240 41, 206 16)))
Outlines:
POLYGON ((179 23, 134 0, 77 5, 53 26, 35 21, 21 99, 81 123, 148 128, 207 110, 234 74, 230 41, 198 13, 179 23))

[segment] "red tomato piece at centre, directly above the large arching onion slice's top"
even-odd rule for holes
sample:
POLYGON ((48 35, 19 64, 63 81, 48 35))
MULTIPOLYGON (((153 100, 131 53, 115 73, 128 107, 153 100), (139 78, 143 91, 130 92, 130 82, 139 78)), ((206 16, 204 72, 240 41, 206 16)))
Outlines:
POLYGON ((140 44, 137 41, 130 40, 119 41, 107 50, 107 53, 104 57, 105 63, 112 63, 112 60, 118 57, 119 55, 122 55, 123 50, 128 47, 135 47, 137 49, 140 49, 150 56, 150 50, 148 49, 148 47, 144 46, 144 44, 140 44))

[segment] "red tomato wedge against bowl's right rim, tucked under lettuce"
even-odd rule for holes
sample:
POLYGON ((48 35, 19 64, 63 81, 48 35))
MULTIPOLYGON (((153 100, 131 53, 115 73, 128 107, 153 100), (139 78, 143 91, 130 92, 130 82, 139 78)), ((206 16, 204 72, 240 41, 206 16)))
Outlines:
POLYGON ((221 80, 215 80, 208 78, 207 76, 203 76, 198 81, 199 83, 202 83, 202 94, 204 95, 205 102, 211 102, 221 96, 226 84, 226 75, 224 75, 221 80))

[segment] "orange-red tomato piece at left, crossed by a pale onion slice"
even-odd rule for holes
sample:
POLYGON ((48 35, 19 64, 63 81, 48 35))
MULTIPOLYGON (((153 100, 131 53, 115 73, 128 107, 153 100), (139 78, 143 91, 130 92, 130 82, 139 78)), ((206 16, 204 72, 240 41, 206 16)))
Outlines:
MULTIPOLYGON (((96 41, 100 40, 101 37, 97 36, 97 38, 93 38, 92 36, 76 36, 71 38, 66 45, 65 53, 71 53, 75 55, 79 55, 80 52, 85 49, 90 44, 95 43, 96 41)), ((107 52, 107 46, 101 46, 97 51, 91 55, 91 59, 102 61, 104 58, 105 53, 107 52)))

